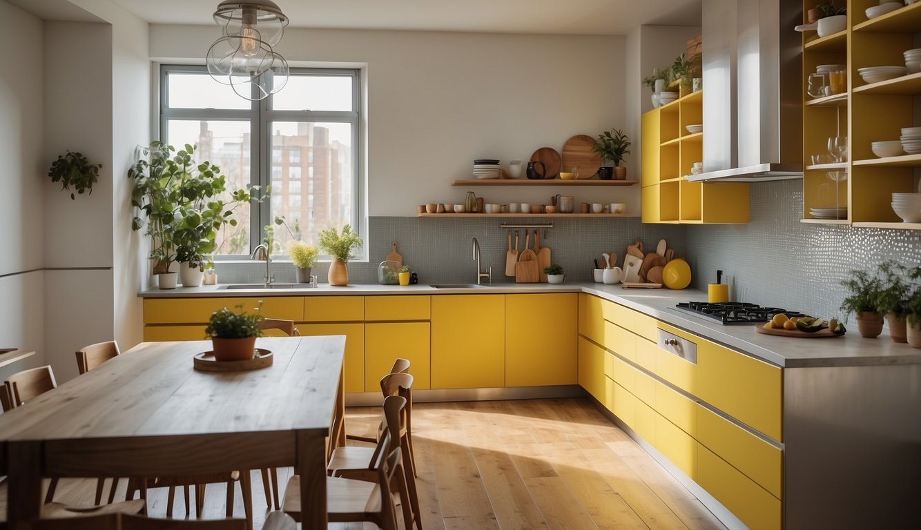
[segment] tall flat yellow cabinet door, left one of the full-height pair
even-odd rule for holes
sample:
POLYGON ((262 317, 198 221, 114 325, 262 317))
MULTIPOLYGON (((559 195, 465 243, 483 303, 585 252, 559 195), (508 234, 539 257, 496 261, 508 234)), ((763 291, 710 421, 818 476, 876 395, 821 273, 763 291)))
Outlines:
POLYGON ((504 294, 432 296, 432 388, 506 384, 504 294))

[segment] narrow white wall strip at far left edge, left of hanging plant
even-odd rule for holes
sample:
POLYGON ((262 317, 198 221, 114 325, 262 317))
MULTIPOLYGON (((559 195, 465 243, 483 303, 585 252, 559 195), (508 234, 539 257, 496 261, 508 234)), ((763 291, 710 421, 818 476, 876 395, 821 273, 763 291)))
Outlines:
POLYGON ((0 381, 44 359, 41 47, 41 20, 0 0, 0 346, 37 351, 0 381))

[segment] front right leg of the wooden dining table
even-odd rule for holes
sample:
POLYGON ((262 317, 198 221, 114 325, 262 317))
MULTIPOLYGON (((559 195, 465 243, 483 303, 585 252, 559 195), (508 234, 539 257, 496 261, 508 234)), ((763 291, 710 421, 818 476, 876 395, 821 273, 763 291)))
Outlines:
POLYGON ((326 530, 326 437, 322 432, 297 433, 297 473, 303 530, 326 530))

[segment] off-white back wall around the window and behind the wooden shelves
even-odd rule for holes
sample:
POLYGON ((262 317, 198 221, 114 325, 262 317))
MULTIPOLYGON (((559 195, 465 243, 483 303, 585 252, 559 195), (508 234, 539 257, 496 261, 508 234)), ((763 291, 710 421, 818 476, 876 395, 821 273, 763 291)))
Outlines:
MULTIPOLYGON (((200 61, 218 34, 153 25, 151 56, 200 61)), ((367 65, 371 215, 462 202, 466 190, 450 182, 472 178, 474 158, 527 160, 612 127, 639 133, 625 124, 623 37, 290 29, 279 51, 293 63, 367 65)), ((488 202, 549 202, 570 191, 638 209, 638 186, 588 190, 476 189, 488 202)))

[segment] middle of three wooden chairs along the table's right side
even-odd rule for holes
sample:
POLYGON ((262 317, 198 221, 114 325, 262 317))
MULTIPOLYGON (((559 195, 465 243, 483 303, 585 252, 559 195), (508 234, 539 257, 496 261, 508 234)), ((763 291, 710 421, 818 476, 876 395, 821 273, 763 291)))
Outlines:
MULTIPOLYGON (((399 426, 395 431, 403 455, 411 455, 412 447, 409 437, 409 404, 413 399, 413 376, 410 374, 387 374, 380 379, 380 388, 385 396, 400 396, 406 400, 398 421, 399 426)), ((385 427, 381 421, 381 429, 385 427)), ((360 480, 375 479, 372 472, 377 448, 344 446, 332 452, 327 470, 333 477, 357 478, 360 480)), ((402 497, 402 512, 405 528, 408 530, 415 523, 418 530, 422 529, 421 513, 419 512, 419 495, 415 488, 415 464, 412 458, 407 458, 403 470, 406 484, 407 497, 402 497)))

